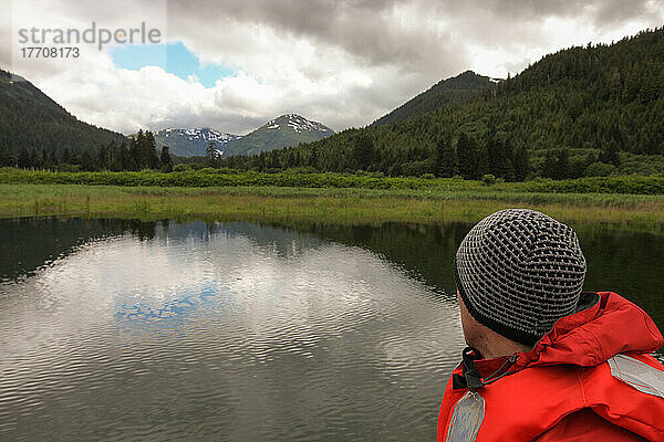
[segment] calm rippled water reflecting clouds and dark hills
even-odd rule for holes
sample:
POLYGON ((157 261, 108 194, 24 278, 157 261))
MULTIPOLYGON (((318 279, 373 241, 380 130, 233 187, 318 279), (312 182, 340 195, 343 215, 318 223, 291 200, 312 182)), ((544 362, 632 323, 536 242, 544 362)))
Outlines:
MULTIPOLYGON (((0 440, 433 440, 469 228, 0 220, 0 440)), ((578 230, 664 328, 664 238, 578 230)))

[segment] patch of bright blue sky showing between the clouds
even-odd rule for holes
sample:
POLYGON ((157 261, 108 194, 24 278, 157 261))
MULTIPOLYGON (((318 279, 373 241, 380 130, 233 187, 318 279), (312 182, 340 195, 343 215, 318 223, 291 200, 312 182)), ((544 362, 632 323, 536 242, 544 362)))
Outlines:
POLYGON ((184 80, 194 75, 205 87, 212 87, 217 80, 237 75, 236 70, 224 64, 201 63, 183 42, 124 44, 108 53, 116 67, 138 71, 144 66, 158 66, 184 80))

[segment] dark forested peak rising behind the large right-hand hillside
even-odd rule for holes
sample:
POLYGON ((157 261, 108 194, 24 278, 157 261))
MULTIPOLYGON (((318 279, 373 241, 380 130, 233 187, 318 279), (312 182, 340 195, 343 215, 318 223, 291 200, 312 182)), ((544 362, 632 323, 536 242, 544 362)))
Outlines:
POLYGON ((398 106, 373 125, 401 123, 414 115, 426 114, 443 106, 470 103, 483 90, 494 87, 499 80, 466 71, 457 76, 442 80, 413 99, 398 106))

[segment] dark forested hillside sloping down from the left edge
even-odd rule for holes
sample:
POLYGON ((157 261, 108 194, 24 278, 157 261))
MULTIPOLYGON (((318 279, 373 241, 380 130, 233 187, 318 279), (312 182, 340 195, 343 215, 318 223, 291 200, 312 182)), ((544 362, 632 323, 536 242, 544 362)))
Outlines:
POLYGON ((96 150, 125 137, 80 122, 28 81, 12 81, 0 70, 0 152, 17 155, 21 148, 61 156, 96 150))

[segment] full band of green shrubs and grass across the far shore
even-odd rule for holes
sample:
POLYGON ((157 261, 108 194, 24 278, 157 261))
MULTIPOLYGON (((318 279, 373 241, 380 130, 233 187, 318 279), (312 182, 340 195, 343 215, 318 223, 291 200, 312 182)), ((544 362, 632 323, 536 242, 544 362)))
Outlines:
POLYGON ((571 224, 661 233, 664 177, 499 182, 371 173, 159 173, 0 169, 0 217, 255 220, 338 224, 478 221, 532 208, 571 224))

